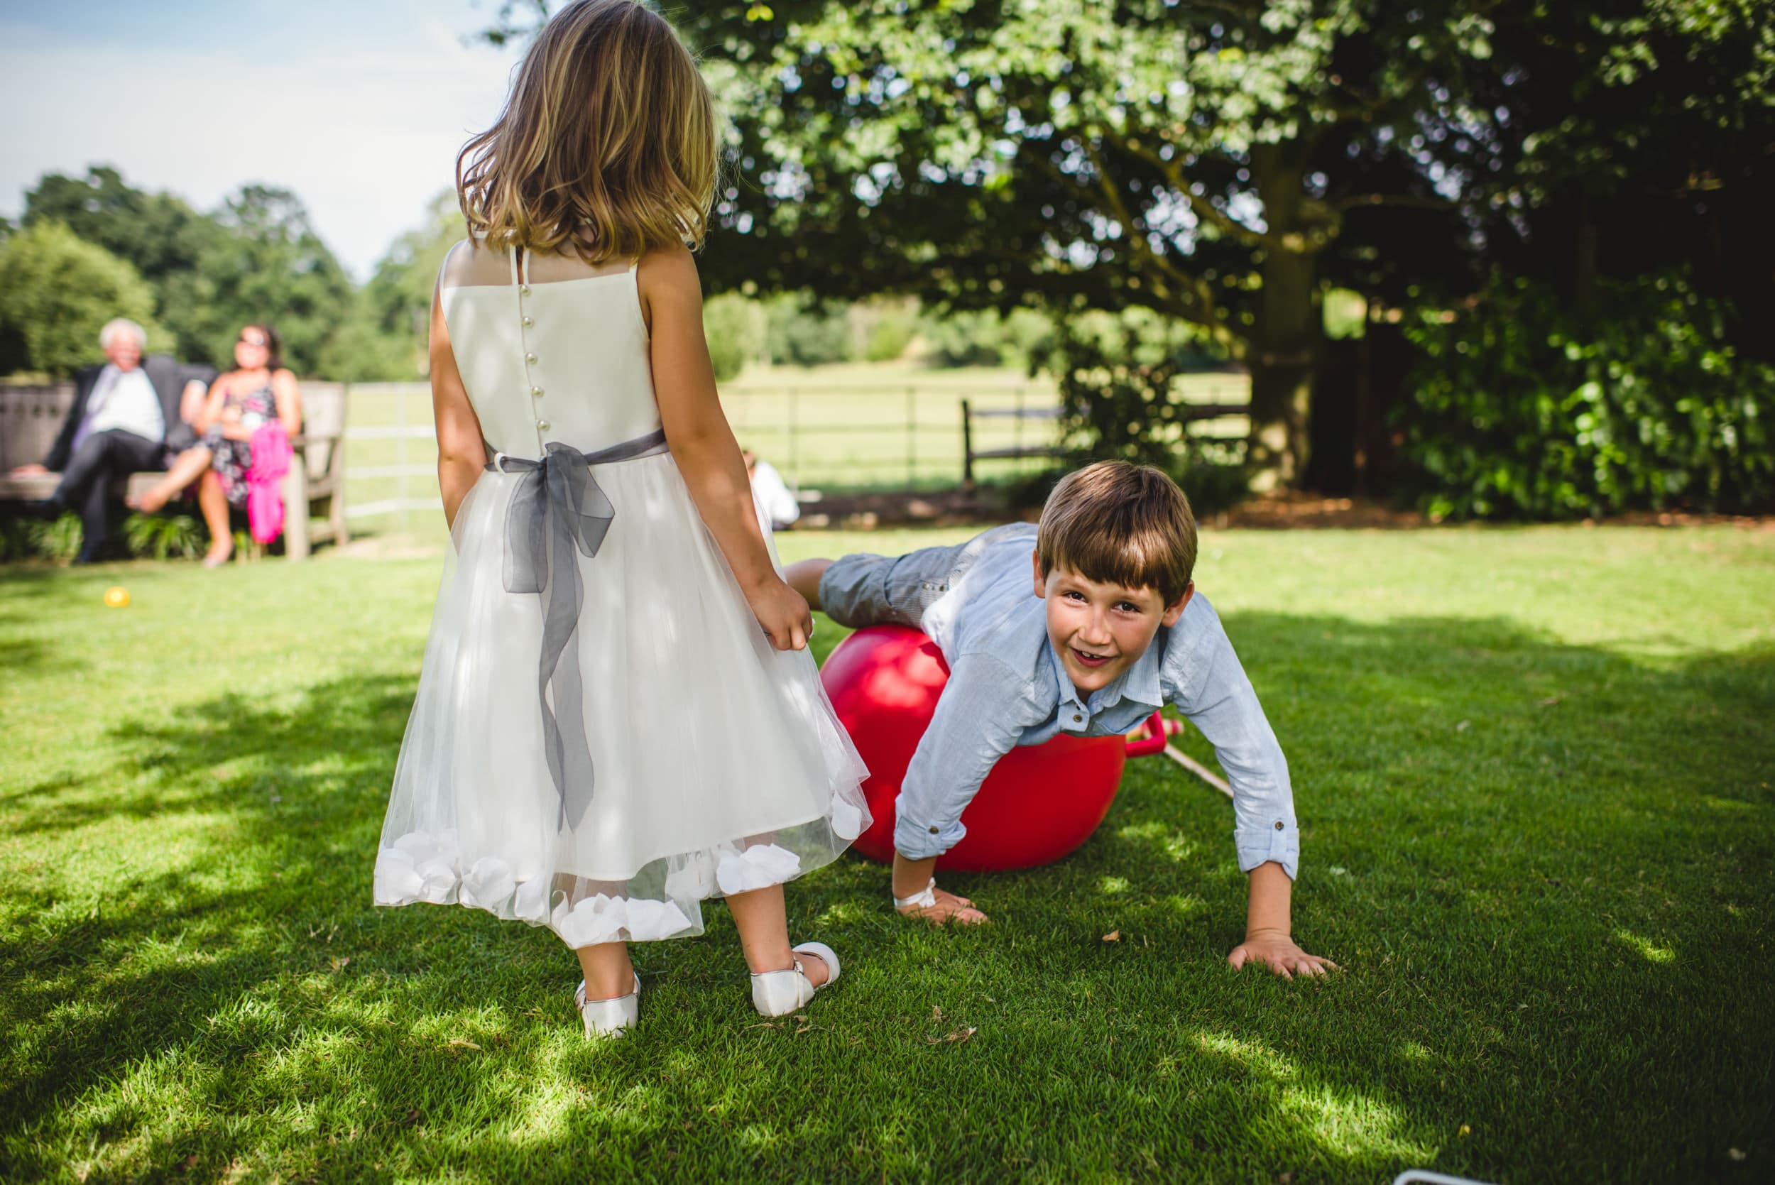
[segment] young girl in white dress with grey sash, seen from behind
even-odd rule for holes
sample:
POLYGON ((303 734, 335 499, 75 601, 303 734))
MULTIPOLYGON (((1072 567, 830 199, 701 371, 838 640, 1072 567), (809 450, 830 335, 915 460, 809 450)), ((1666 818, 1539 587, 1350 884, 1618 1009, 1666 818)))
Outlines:
POLYGON ((632 0, 541 30, 463 149, 438 275, 446 561, 376 857, 376 903, 460 903, 579 954, 586 1034, 635 1024, 628 942, 724 896, 753 1004, 838 979, 783 883, 868 825, 703 341, 708 89, 632 0))

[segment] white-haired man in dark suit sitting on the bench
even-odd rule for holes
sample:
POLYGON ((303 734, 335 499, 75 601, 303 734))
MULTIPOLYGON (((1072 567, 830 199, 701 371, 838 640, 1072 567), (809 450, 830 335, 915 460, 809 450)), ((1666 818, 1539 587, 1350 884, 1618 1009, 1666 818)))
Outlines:
POLYGON ((85 534, 76 564, 98 561, 110 541, 112 481, 165 468, 170 454, 195 442, 186 419, 215 376, 167 355, 144 358, 147 332, 122 318, 99 330, 99 348, 108 362, 75 376, 75 401, 50 456, 12 470, 14 477, 62 474, 44 509, 80 513, 85 534))

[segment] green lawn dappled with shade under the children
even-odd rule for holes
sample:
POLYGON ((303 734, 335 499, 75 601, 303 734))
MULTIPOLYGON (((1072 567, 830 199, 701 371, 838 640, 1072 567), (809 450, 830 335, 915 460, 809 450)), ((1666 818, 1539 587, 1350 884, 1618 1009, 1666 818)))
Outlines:
POLYGON ((806 1025, 719 906, 637 947, 616 1045, 548 931, 369 905, 435 582, 0 571, 0 1178, 1770 1180, 1768 532, 1203 536, 1329 981, 1227 969, 1230 809, 1148 759, 1069 860, 950 878, 989 928, 793 885, 806 1025))

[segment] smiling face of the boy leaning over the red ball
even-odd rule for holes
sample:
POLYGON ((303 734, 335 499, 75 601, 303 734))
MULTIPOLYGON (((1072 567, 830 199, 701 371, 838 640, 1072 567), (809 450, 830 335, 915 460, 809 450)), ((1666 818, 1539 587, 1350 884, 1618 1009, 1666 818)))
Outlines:
POLYGON ((1159 626, 1177 624, 1195 592, 1191 580, 1184 594, 1166 605, 1154 587, 1104 584, 1065 564, 1054 564, 1044 577, 1042 557, 1035 557, 1035 594, 1047 607, 1047 639, 1079 695, 1115 683, 1147 653, 1159 626))

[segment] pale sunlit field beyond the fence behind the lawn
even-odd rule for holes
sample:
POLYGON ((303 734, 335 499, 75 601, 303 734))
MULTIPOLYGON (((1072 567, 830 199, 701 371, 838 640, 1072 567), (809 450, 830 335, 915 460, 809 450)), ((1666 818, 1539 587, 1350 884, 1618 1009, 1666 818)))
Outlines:
MULTIPOLYGON (((1242 374, 1191 374, 1180 380, 1195 403, 1242 403, 1242 374)), ((797 486, 850 490, 948 490, 962 481, 962 399, 978 412, 1058 406, 1053 381, 1015 369, 930 371, 905 364, 753 367, 722 385, 722 404, 740 443, 776 465, 797 486)), ((430 428, 431 396, 422 383, 353 388, 348 424, 382 429, 430 428), (405 417, 405 419, 403 419, 405 417)), ((1202 426, 1211 435, 1241 435, 1244 420, 1202 426)), ((974 424, 974 449, 1042 447, 1054 442, 1054 420, 987 417, 974 424)), ((405 479, 362 470, 433 465, 430 438, 351 440, 348 465, 355 506, 412 497, 435 498, 430 474, 405 479), (403 490, 405 481, 405 490, 403 490)), ((1051 467, 1042 458, 982 461, 976 479, 1010 481, 1051 467)))

